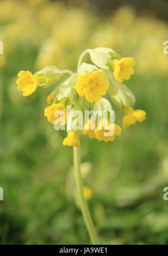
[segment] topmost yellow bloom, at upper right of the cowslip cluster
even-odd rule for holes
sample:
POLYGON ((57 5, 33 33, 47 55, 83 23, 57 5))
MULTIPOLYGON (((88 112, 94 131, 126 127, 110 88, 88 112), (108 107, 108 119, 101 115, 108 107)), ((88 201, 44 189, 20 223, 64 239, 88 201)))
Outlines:
POLYGON ((114 69, 114 78, 118 82, 122 83, 124 80, 129 80, 130 75, 134 74, 132 66, 136 64, 134 58, 122 58, 120 60, 113 60, 111 62, 112 68, 114 69))

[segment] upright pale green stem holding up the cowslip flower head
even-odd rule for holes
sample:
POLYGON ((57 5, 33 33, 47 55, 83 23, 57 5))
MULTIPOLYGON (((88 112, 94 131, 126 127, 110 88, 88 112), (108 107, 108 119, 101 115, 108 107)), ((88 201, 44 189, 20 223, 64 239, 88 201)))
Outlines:
POLYGON ((94 223, 92 222, 92 218, 85 200, 85 196, 83 195, 83 185, 82 185, 82 176, 81 176, 81 157, 80 157, 80 147, 73 147, 73 159, 74 159, 74 174, 76 179, 76 187, 77 193, 80 200, 81 211, 83 214, 83 218, 86 224, 86 228, 88 234, 90 236, 91 242, 94 245, 98 245, 98 239, 96 230, 94 227, 94 223))

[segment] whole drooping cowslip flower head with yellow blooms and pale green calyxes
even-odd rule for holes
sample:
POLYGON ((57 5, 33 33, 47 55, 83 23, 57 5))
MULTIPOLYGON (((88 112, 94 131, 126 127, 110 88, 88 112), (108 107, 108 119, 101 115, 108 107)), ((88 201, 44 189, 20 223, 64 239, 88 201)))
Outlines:
MULTIPOLYGON (((112 105, 114 104, 115 107, 123 111, 122 122, 123 128, 126 129, 137 121, 142 122, 146 119, 145 111, 133 109, 136 99, 132 91, 123 83, 134 74, 133 66, 135 64, 132 57, 121 58, 110 48, 97 47, 87 49, 81 54, 76 73, 71 70, 59 70, 55 66, 46 66, 35 74, 30 71, 20 71, 16 83, 18 89, 23 92, 22 95, 29 96, 37 87, 48 88, 57 82, 53 91, 46 98, 49 106, 44 110, 45 117, 52 124, 66 124, 67 106, 71 106, 72 111, 110 111, 113 110, 112 105), (83 62, 83 57, 86 54, 90 55, 93 64, 83 62), (61 82, 59 83, 59 81, 61 82), (111 103, 113 104, 111 105, 111 103), (60 116, 58 111, 62 111, 60 116)), ((83 124, 82 131, 68 130, 63 145, 78 147, 81 134, 99 141, 114 141, 115 136, 120 136, 122 129, 119 125, 114 124, 113 134, 106 136, 106 132, 110 131, 110 119, 108 116, 106 119, 107 122, 103 119, 100 122, 100 119, 96 118, 93 128, 90 118, 87 123, 83 124)))

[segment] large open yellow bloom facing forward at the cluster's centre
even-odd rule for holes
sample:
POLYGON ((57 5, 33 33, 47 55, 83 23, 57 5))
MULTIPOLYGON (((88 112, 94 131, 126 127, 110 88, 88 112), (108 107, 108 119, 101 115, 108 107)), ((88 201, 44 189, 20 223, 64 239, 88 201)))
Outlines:
POLYGON ((99 101, 108 89, 108 80, 101 71, 85 73, 78 77, 76 91, 78 95, 86 97, 89 102, 99 101))

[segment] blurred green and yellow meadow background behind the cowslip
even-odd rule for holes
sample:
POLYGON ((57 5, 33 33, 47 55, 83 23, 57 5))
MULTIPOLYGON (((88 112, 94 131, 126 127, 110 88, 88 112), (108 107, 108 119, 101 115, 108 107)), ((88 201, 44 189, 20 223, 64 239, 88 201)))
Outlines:
POLYGON ((135 108, 147 112, 114 142, 82 137, 85 196, 100 242, 168 242, 168 5, 100 2, 0 1, 1 244, 90 244, 76 204, 72 148, 44 117, 50 88, 22 97, 15 82, 20 70, 75 70, 80 53, 98 46, 136 59, 126 84, 135 108))

